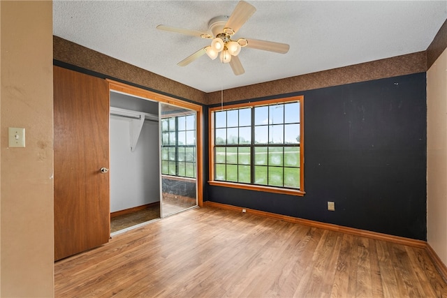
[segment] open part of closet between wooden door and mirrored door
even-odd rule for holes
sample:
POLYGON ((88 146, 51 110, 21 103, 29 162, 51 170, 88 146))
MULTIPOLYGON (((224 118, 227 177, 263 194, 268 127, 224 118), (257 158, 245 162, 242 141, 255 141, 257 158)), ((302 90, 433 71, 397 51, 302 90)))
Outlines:
POLYGON ((110 233, 160 214, 159 103, 110 91, 110 233))

